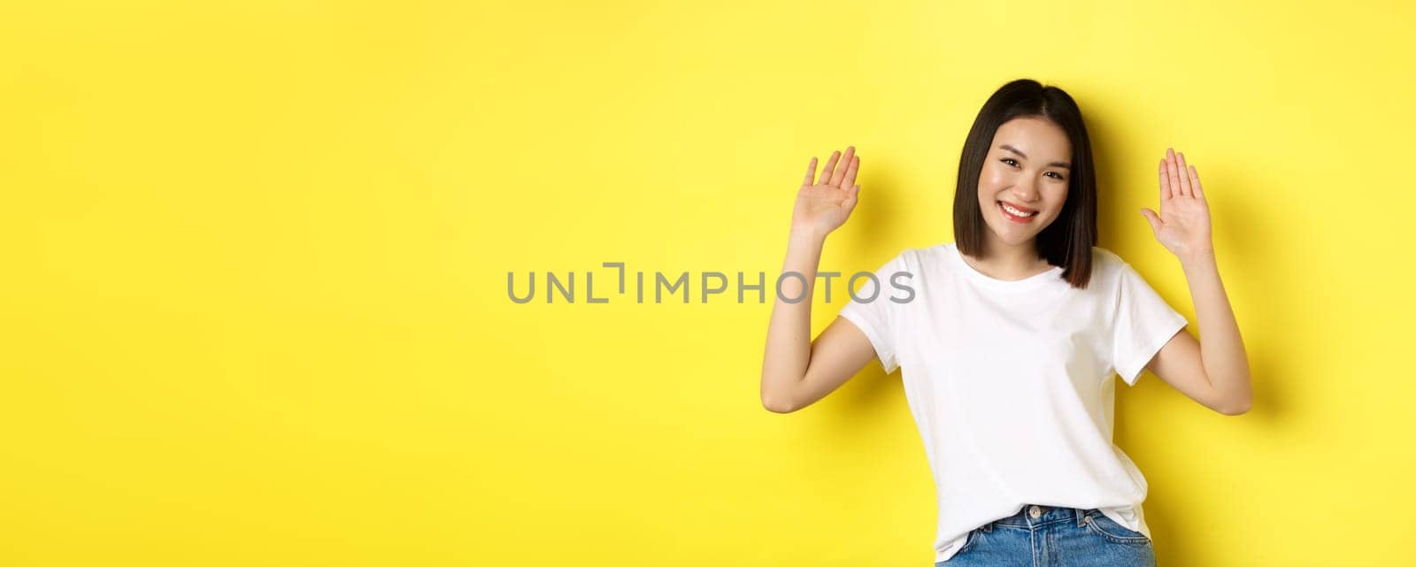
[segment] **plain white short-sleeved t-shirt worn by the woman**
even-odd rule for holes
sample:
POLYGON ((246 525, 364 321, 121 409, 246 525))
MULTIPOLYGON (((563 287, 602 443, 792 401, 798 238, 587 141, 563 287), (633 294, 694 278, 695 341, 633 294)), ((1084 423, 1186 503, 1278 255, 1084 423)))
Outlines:
POLYGON ((1096 508, 1150 537, 1146 478, 1112 443, 1114 378, 1134 385, 1187 321, 1119 256, 1092 257, 1078 290, 1058 266, 1005 281, 953 242, 906 249, 878 287, 861 279, 857 297, 874 301, 841 308, 886 373, 903 369, 939 501, 935 561, 1032 503, 1096 508))

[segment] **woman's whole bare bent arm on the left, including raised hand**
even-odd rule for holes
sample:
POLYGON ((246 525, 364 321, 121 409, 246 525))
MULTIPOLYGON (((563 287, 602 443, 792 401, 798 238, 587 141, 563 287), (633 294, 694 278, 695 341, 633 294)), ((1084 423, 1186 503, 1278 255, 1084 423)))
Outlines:
POLYGON ((811 181, 816 177, 816 158, 811 158, 806 181, 797 192, 782 273, 794 271, 801 277, 782 280, 782 293, 773 298, 762 356, 762 406, 770 411, 790 413, 814 403, 875 356, 865 334, 848 321, 841 322, 841 318, 810 341, 811 294, 826 235, 845 222, 860 192, 860 185, 852 185, 860 164, 854 151, 854 147, 845 150, 840 168, 835 168, 840 153, 831 153, 820 184, 811 181), (801 300, 789 303, 784 297, 801 300))

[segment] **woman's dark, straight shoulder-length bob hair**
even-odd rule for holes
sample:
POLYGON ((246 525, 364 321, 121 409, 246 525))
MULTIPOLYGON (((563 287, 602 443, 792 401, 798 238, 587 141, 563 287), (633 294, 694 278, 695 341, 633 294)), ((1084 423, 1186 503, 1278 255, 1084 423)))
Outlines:
POLYGON ((1051 120, 1072 141, 1066 202, 1062 214, 1038 233, 1037 247, 1038 257, 1062 267, 1062 279, 1072 287, 1086 288, 1092 279, 1092 246, 1096 245, 1096 168, 1092 165, 1092 141, 1086 137, 1082 110, 1072 96, 1056 86, 1018 79, 1003 85, 983 103, 959 158, 959 185, 954 191, 956 246, 969 256, 983 257, 984 230, 988 226, 978 209, 978 175, 998 126, 1017 117, 1051 120))

